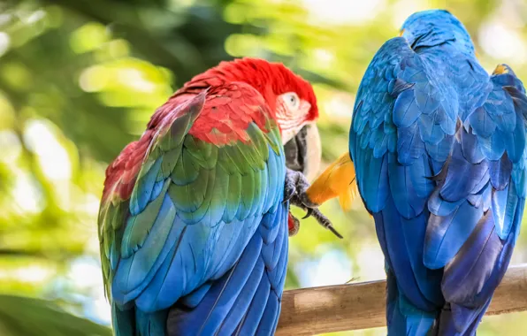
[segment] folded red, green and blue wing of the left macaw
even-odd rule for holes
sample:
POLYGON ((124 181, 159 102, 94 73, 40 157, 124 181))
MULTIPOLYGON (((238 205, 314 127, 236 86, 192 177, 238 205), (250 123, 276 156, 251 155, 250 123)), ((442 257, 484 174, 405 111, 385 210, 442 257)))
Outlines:
MULTIPOLYGON (((249 304, 272 271, 283 285, 286 168, 279 128, 263 97, 242 83, 170 108, 151 140, 129 145, 107 172, 99 214, 103 277, 116 306, 133 302, 149 313, 188 294, 183 303, 197 305, 210 281, 236 265, 233 277, 221 279, 222 292, 230 292, 219 315, 201 317, 203 324, 216 318, 218 327, 241 288, 251 291, 243 294, 249 304), (200 118, 220 118, 223 126, 208 128, 200 118), (146 154, 138 157, 141 150, 146 154), (250 251, 241 258, 244 249, 250 251)), ((277 285, 272 280, 264 285, 277 285)), ((242 313, 232 318, 240 322, 242 313)))

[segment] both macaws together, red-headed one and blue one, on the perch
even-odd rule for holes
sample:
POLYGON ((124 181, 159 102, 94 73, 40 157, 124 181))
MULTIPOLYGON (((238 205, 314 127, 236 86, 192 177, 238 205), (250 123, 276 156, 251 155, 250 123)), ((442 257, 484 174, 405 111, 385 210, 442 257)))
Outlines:
POLYGON ((254 58, 197 75, 106 171, 115 334, 273 334, 300 225, 290 204, 336 233, 317 206, 346 207, 356 187, 386 256, 388 333, 474 333, 519 232, 525 113, 521 81, 507 65, 489 77, 459 20, 416 13, 363 77, 349 152, 309 187, 309 83, 254 58))

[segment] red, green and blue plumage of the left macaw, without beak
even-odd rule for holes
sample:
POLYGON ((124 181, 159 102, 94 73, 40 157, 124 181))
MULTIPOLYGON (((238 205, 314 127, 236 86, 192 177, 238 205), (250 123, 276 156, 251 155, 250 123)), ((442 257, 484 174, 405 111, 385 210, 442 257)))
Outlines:
POLYGON ((317 113, 307 81, 253 58, 197 75, 156 111, 106 172, 99 239, 116 335, 274 331, 287 200, 307 188, 300 172, 286 179, 283 144, 317 113))

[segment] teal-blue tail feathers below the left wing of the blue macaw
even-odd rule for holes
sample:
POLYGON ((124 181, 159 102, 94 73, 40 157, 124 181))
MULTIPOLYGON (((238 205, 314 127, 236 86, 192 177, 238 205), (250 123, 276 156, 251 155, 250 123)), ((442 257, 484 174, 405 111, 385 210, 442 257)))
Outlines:
POLYGON ((387 270, 386 285, 386 321, 389 336, 422 336, 434 335, 434 322, 438 313, 416 308, 401 293, 393 276, 387 270))

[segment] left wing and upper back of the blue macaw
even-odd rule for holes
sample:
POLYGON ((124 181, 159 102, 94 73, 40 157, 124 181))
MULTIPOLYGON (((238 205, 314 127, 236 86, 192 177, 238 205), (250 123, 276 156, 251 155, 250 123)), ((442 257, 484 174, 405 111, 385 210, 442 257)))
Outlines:
POLYGON ((405 39, 394 38, 364 74, 349 134, 357 185, 375 218, 387 266, 401 292, 423 310, 442 301, 440 273, 424 267, 423 244, 426 200, 435 187, 430 178, 454 141, 454 96, 405 39))

